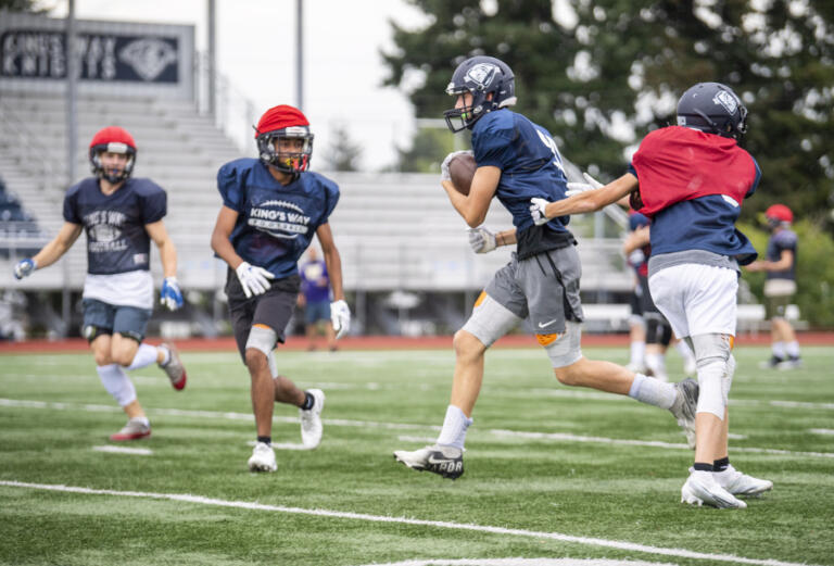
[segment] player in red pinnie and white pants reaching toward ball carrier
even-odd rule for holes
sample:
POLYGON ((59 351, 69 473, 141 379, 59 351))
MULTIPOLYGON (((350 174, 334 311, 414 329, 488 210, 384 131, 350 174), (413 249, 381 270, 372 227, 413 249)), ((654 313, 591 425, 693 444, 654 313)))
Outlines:
POLYGON ((652 218, 652 298, 695 352, 700 386, 695 464, 681 501, 723 508, 745 508, 736 495, 758 495, 773 487, 733 468, 728 450, 738 265, 756 259, 735 222, 761 176, 737 144, 746 118, 747 109, 732 89, 699 83, 678 102, 678 125, 649 133, 626 175, 557 202, 535 198, 530 205, 531 218, 546 225, 549 218, 594 212, 630 194, 632 206, 652 218))

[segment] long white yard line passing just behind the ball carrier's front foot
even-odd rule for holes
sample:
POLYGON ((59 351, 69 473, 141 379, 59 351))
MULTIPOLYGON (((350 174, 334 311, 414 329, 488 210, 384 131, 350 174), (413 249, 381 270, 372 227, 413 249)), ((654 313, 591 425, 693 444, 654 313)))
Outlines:
MULTIPOLYGON (((53 403, 47 401, 27 401, 27 400, 14 400, 14 399, 0 399, 0 406, 14 406, 24 408, 54 408, 60 411, 90 411, 90 412, 109 412, 109 413, 122 413, 121 407, 110 405, 89 405, 89 404, 74 404, 74 403, 53 403)), ((251 414, 243 413, 220 413, 217 411, 187 411, 181 408, 151 408, 149 411, 155 415, 172 415, 184 417, 203 417, 203 418, 225 418, 228 420, 254 420, 251 414)), ((274 420, 279 423, 298 424, 298 417, 274 417, 274 420)), ((343 418, 325 418, 323 423, 328 426, 337 427, 361 427, 361 428, 382 428, 388 430, 440 430, 441 427, 437 425, 409 425, 402 423, 377 423, 372 420, 348 420, 343 418)), ((606 437, 586 437, 581 435, 571 435, 568 432, 530 432, 523 430, 504 430, 504 429, 485 429, 482 432, 494 435, 497 437, 517 437, 528 438, 534 440, 560 440, 564 442, 591 442, 599 444, 615 444, 624 446, 646 446, 646 448, 664 448, 692 451, 684 443, 675 442, 662 442, 659 440, 629 440, 621 438, 606 438, 606 437)), ((824 457, 834 458, 834 452, 795 452, 792 450, 779 450, 767 448, 743 448, 733 446, 733 452, 747 452, 750 454, 775 454, 785 456, 805 456, 805 457, 824 457)))

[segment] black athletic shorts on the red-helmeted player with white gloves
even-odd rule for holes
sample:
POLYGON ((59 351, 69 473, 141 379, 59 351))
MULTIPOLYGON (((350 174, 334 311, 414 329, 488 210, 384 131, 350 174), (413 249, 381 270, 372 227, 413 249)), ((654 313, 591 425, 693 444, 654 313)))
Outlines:
POLYGON ((235 271, 229 268, 226 275, 225 290, 229 299, 231 328, 241 357, 245 356, 247 340, 253 325, 268 326, 278 335, 278 342, 285 342, 285 330, 295 309, 301 277, 291 275, 283 279, 273 279, 270 282, 265 293, 247 299, 235 271))

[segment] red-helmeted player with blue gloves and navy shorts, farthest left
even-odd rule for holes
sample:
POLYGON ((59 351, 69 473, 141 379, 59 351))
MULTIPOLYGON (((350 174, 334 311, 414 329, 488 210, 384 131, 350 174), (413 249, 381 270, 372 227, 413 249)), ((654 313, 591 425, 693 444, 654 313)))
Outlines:
POLYGON ((177 285, 177 251, 162 218, 165 191, 150 179, 132 178, 136 142, 117 126, 99 130, 89 149, 93 177, 67 189, 64 225, 34 257, 22 260, 14 276, 22 279, 64 255, 87 234, 87 277, 84 281, 84 336, 90 342, 96 370, 104 389, 127 414, 127 424, 110 437, 114 441, 151 436, 151 425, 125 369, 156 363, 176 390, 186 387, 186 369, 170 344, 143 343, 153 310, 150 272, 151 240, 160 250, 160 302, 170 311, 182 306, 177 285))

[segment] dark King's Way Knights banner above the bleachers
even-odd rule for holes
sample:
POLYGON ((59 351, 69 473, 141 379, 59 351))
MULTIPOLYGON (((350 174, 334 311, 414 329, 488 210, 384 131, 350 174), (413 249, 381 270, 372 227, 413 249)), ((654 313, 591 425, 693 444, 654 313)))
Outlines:
MULTIPOLYGON (((73 49, 81 92, 193 97, 193 26, 78 20, 73 49)), ((3 12, 0 90, 63 90, 66 21, 3 12)))

